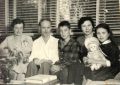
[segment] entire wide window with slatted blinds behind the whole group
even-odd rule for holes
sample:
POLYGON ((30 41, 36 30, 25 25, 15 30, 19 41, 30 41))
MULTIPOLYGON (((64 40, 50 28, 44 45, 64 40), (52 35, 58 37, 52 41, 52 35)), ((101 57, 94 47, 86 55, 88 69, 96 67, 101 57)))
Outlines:
MULTIPOLYGON (((105 22, 114 32, 120 30, 120 0, 0 0, 0 30, 5 30, 15 17, 24 19, 24 32, 37 32, 41 18, 50 18, 53 31, 64 18, 60 15, 60 1, 67 1, 66 13, 72 30, 77 34, 77 22, 82 16, 91 16, 95 24, 105 22), (8 1, 8 6, 5 5, 8 1), (8 9, 8 11, 5 9, 8 9), (6 17, 6 13, 8 16, 6 17)), ((64 8, 64 7, 63 7, 64 8)), ((63 13, 64 14, 64 13, 63 13)), ((118 34, 117 33, 117 34, 118 34)))

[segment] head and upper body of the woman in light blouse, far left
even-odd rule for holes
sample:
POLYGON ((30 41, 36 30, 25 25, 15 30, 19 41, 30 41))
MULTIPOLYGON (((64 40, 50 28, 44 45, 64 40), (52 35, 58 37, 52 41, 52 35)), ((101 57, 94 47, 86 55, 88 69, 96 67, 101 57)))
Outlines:
POLYGON ((13 20, 11 27, 13 28, 14 34, 6 37, 6 39, 1 43, 0 47, 2 49, 7 47, 13 52, 14 50, 17 50, 25 53, 30 53, 32 47, 32 38, 22 34, 24 21, 16 18, 13 20))

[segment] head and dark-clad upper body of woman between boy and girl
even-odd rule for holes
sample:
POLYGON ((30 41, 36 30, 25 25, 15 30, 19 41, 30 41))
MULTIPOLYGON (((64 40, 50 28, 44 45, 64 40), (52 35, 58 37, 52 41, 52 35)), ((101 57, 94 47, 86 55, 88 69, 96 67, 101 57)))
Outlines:
POLYGON ((79 36, 77 38, 77 41, 79 42, 81 46, 81 57, 87 56, 87 49, 85 48, 84 41, 86 38, 93 37, 94 36, 94 22, 91 17, 81 17, 78 21, 78 28, 83 32, 83 36, 79 36))

